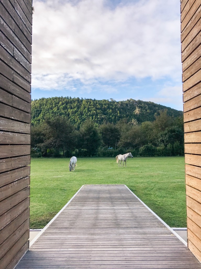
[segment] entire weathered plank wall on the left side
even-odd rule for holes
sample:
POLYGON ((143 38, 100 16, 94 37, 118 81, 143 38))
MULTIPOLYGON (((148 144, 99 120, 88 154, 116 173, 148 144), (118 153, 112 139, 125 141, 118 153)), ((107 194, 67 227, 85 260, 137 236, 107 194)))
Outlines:
POLYGON ((0 267, 29 247, 32 1, 0 0, 0 267))

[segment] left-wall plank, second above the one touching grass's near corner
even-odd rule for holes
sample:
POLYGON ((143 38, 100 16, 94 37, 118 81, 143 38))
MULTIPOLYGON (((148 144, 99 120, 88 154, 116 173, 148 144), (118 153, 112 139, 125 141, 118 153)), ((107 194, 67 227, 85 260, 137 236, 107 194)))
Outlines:
POLYGON ((8 225, 14 218, 17 218, 24 210, 30 205, 30 198, 26 198, 16 206, 12 207, 9 211, 0 216, 0 230, 8 225))

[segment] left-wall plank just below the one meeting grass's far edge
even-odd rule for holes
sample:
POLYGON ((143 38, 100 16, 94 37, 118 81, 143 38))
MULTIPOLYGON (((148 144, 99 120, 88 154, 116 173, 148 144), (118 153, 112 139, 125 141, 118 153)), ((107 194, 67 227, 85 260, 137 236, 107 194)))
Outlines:
POLYGON ((21 167, 9 172, 0 174, 0 187, 12 183, 18 179, 25 178, 30 175, 30 166, 21 167))

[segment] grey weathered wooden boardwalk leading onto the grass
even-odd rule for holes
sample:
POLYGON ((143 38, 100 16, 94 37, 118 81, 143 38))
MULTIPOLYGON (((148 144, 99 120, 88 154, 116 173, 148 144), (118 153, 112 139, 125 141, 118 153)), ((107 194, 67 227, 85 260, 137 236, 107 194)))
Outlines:
POLYGON ((125 185, 84 185, 16 269, 201 268, 125 185))

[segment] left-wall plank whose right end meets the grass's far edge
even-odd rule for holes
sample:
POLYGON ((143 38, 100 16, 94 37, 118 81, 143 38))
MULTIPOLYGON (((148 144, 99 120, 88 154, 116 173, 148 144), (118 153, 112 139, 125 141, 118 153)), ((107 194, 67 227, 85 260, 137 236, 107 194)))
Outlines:
POLYGON ((0 172, 6 172, 30 164, 30 155, 0 159, 0 172))

